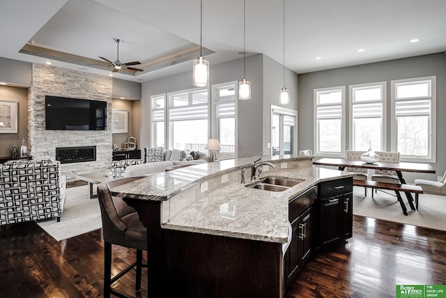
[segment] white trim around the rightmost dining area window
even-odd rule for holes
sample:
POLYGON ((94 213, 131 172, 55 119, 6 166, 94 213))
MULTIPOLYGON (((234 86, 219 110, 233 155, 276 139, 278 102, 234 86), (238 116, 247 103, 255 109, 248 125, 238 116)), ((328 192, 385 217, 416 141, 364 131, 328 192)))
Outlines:
MULTIPOLYGON (((400 161, 409 161, 409 162, 423 162, 423 163, 436 163, 436 111, 437 111, 437 77, 436 75, 432 75, 429 77, 413 77, 410 79, 403 80, 392 80, 391 84, 391 150, 397 151, 397 117, 395 116, 395 100, 396 100, 396 92, 397 89, 395 86, 397 84, 406 83, 406 82, 420 82, 420 81, 431 81, 431 135, 429 137, 429 155, 428 157, 408 157, 408 156, 400 156, 400 161)), ((424 98, 424 97, 423 97, 424 98)), ((414 99, 414 98, 410 98, 414 99)))

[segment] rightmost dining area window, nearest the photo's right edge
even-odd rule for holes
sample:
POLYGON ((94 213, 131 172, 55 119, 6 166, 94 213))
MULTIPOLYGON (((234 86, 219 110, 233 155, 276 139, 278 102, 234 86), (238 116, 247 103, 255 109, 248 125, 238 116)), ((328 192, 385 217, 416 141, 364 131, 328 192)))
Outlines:
POLYGON ((436 161, 436 76, 392 83, 392 151, 403 161, 436 161))

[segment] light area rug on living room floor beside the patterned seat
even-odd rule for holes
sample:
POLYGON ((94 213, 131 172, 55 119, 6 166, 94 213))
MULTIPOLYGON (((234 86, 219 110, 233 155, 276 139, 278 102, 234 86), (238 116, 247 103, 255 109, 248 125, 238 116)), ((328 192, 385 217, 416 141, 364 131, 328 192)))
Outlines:
POLYGON ((102 228, 98 199, 89 199, 89 186, 66 189, 61 221, 56 218, 37 224, 57 241, 102 228))

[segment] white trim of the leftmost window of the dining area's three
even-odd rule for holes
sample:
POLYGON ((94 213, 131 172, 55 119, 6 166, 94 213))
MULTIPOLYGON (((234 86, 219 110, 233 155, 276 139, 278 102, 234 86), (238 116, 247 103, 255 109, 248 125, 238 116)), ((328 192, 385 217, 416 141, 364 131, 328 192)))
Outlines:
MULTIPOLYGON (((338 86, 338 87, 327 87, 327 88, 319 88, 313 90, 313 135, 314 135, 314 156, 320 156, 320 157, 345 157, 346 153, 346 87, 345 86, 338 86), (328 154, 327 152, 319 152, 318 148, 318 119, 317 119, 317 94, 321 91, 330 91, 330 90, 341 90, 341 110, 342 110, 342 116, 341 116, 341 152, 339 154, 328 154)), ((323 106, 323 105, 321 105, 323 106)))

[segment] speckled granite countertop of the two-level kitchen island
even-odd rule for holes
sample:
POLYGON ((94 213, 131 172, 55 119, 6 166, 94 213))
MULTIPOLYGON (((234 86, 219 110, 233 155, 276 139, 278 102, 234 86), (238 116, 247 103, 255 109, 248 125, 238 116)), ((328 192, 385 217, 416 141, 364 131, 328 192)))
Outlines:
MULTIPOLYGON (((302 156, 300 156, 302 158, 302 156)), ((263 158, 263 161, 289 161, 287 158, 263 158)), ((249 166, 253 158, 240 158, 193 165, 183 169, 144 177, 113 188, 113 195, 139 200, 161 200, 165 207, 181 191, 197 188, 201 181, 249 166)), ((268 172, 263 172, 267 176, 268 172)), ((305 179, 286 191, 271 192, 247 188, 236 181, 206 191, 189 200, 162 223, 162 228, 224 237, 285 243, 288 241, 288 202, 321 181, 352 177, 354 174, 323 167, 286 168, 275 173, 282 177, 305 179)), ((193 192, 192 192, 193 193, 193 192)), ((177 200, 178 201, 178 200, 177 200)), ((175 202, 175 200, 172 200, 175 202)))

